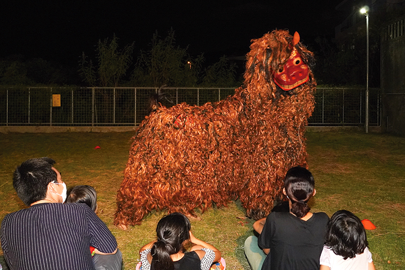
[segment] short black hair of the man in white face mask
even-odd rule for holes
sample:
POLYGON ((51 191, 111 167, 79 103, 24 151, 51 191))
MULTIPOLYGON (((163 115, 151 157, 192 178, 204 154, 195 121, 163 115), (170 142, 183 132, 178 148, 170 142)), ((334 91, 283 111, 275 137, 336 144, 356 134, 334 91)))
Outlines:
POLYGON ((55 161, 44 157, 24 161, 13 174, 13 187, 18 197, 26 205, 44 200, 47 196, 48 184, 58 181, 52 169, 55 161))

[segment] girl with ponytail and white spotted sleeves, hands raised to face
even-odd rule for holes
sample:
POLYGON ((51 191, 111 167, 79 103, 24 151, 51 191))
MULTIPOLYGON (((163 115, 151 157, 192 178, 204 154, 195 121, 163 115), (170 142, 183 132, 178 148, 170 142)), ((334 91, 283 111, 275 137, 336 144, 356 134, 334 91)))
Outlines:
POLYGON ((186 216, 173 213, 159 220, 157 240, 146 244, 139 251, 142 270, 208 270, 213 262, 221 259, 221 252, 214 246, 194 237, 186 216), (184 245, 194 244, 190 252, 184 245))

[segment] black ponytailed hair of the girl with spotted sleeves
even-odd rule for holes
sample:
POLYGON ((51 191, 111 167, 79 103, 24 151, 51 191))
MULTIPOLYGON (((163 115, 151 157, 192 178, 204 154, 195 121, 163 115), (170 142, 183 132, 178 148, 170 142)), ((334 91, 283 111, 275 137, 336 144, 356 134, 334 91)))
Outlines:
POLYGON ((181 213, 173 213, 160 219, 156 226, 157 241, 151 249, 151 270, 173 270, 170 255, 183 250, 184 241, 190 239, 191 224, 181 213))

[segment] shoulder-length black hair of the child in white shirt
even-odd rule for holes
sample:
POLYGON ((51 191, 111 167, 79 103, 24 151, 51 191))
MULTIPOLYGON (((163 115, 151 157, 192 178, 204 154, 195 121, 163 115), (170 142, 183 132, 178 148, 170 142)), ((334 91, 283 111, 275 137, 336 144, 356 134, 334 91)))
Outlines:
POLYGON ((360 219, 347 210, 334 213, 329 221, 325 245, 343 259, 354 258, 369 246, 360 219))

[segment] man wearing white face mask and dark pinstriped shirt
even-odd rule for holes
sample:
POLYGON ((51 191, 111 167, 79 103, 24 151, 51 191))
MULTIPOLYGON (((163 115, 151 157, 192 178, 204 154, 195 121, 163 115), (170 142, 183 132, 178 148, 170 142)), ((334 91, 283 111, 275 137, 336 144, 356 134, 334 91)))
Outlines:
POLYGON ((121 269, 122 255, 107 226, 86 204, 63 204, 66 184, 50 158, 30 159, 13 186, 29 208, 6 215, 1 241, 10 269, 121 269), (95 265, 90 246, 111 265, 95 265))

